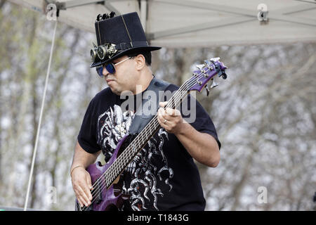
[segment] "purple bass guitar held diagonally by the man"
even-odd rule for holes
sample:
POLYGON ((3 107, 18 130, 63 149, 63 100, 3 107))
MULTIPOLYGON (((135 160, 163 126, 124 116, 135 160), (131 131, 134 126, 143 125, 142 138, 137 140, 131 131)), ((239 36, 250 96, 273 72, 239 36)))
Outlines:
MULTIPOLYGON (((198 70, 194 71, 193 76, 188 79, 180 89, 176 91, 168 101, 165 108, 176 108, 180 105, 185 96, 190 91, 199 91, 206 87, 207 95, 209 95, 209 89, 207 83, 211 80, 211 88, 217 86, 215 82, 215 75, 226 79, 225 65, 219 61, 219 58, 211 58, 210 60, 204 60, 203 65, 197 65, 198 70)), ((158 131, 160 128, 157 117, 153 117, 152 120, 146 125, 146 127, 137 134, 136 138, 132 138, 132 135, 127 133, 117 143, 117 148, 114 150, 109 162, 105 165, 101 165, 100 162, 96 162, 90 165, 86 170, 91 175, 91 181, 93 188, 91 194, 93 199, 89 207, 80 207, 78 201, 76 204, 76 210, 86 211, 107 211, 107 210, 119 210, 124 204, 124 200, 129 198, 129 195, 122 194, 122 177, 121 173, 127 165, 135 158, 137 153, 145 146, 147 141, 158 131), (130 141, 133 139, 133 141, 130 141), (129 146, 126 147, 126 143, 129 146)))

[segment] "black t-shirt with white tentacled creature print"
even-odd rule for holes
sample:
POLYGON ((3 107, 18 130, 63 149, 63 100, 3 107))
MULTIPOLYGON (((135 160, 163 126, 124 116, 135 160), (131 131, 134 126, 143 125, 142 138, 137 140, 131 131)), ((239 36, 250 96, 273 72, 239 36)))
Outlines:
MULTIPOLYGON (((166 91, 174 93, 177 89, 178 86, 170 84, 166 91)), ((131 96, 134 98, 134 106, 126 111, 121 108, 126 99, 120 99, 110 88, 96 94, 88 105, 79 131, 78 142, 81 148, 88 153, 102 150, 107 162, 119 140, 129 130, 135 109, 141 103, 136 98, 141 99, 139 97, 143 94, 144 91, 131 96)), ((165 101, 168 99, 165 97, 165 101)), ((213 136, 220 147, 216 129, 202 105, 190 94, 183 104, 187 108, 185 112, 180 108, 183 118, 197 131, 213 136), (191 107, 192 103, 196 104, 196 108, 191 107), (192 113, 189 111, 191 108, 196 110, 192 113)), ((205 208, 195 162, 176 136, 162 127, 124 170, 122 193, 129 194, 130 198, 121 210, 200 211, 205 208)))

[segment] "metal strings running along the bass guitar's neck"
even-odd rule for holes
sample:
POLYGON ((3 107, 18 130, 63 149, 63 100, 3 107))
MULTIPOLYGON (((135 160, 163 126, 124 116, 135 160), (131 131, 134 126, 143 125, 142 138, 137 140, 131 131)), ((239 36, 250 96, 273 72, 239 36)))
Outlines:
MULTIPOLYGON (((190 86, 190 85, 192 85, 192 86, 195 86, 195 84, 196 84, 196 82, 197 82, 197 80, 199 79, 199 78, 201 78, 201 77, 203 77, 203 75, 204 75, 204 73, 205 72, 208 72, 210 70, 210 68, 208 68, 207 70, 205 70, 204 72, 201 72, 199 75, 195 75, 195 78, 191 78, 191 79, 189 79, 189 80, 187 80, 185 83, 183 83, 183 85, 182 86, 180 86, 180 89, 178 89, 178 94, 176 93, 173 97, 175 98, 175 99, 170 99, 169 101, 168 101, 168 103, 167 103, 167 105, 165 105, 165 108, 167 108, 168 106, 170 106, 169 105, 169 103, 173 103, 173 106, 175 106, 175 104, 174 104, 174 102, 175 101, 179 101, 179 100, 181 100, 181 98, 184 98, 186 95, 187 95, 187 91, 184 91, 183 90, 183 88, 187 88, 188 86, 190 86), (187 83, 187 84, 186 84, 187 83), (187 85, 187 86, 185 86, 185 85, 187 85), (181 90, 182 89, 182 90, 181 90), (183 96, 183 92, 185 92, 186 94, 185 94, 185 96, 183 96)), ((213 70, 213 68, 212 68, 212 70, 213 70)), ((217 72, 216 72, 217 73, 217 72)), ((216 75, 216 74, 215 74, 216 75)), ((214 75, 213 75, 214 76, 214 75)), ((192 88, 192 86, 190 86, 189 88, 192 88)), ((171 97, 172 98, 172 97, 171 97)), ((178 105, 180 104, 181 102, 179 102, 179 103, 177 103, 177 106, 175 107, 175 108, 177 108, 178 107, 178 105)), ((154 119, 156 119, 157 118, 157 115, 155 115, 154 116, 154 118, 151 120, 152 121, 152 124, 151 124, 151 122, 149 123, 149 124, 147 124, 146 126, 145 126, 145 128, 143 129, 143 131, 144 131, 144 133, 145 133, 145 135, 146 135, 146 137, 147 137, 147 134, 148 134, 148 132, 147 131, 149 131, 149 133, 150 133, 150 130, 147 130, 148 128, 149 129, 151 129, 151 127, 152 126, 157 126, 157 125, 159 125, 159 122, 158 122, 158 120, 154 120, 154 119), (149 125, 149 126, 148 126, 149 125)), ((142 134, 143 133, 143 131, 141 131, 140 132, 140 134, 142 134)), ((141 136, 141 135, 140 135, 141 136)), ((136 139, 134 139, 134 141, 135 142, 137 142, 137 141, 141 141, 141 142, 144 142, 143 143, 143 145, 145 145, 146 144, 146 141, 144 141, 143 140, 143 138, 142 139, 140 139, 140 138, 138 138, 137 140, 136 139)), ((146 140, 146 139, 145 139, 146 140)), ((133 142, 134 141, 132 141, 131 142, 131 144, 133 144, 133 142)), ((130 146, 131 146, 131 144, 130 144, 130 146)), ((138 143, 137 143, 138 144, 138 143)), ((136 145, 136 143, 134 143, 134 145, 133 146, 135 146, 136 145)), ((139 146, 139 145, 138 145, 139 146)), ((140 146, 142 146, 142 144, 140 145, 140 146)), ((128 146, 128 148, 129 148, 129 146, 128 146)), ((126 158, 128 158, 128 157, 131 157, 131 156, 133 156, 133 155, 136 155, 136 153, 134 153, 134 150, 133 151, 126 151, 126 150, 124 150, 124 152, 123 153, 121 153, 121 155, 119 156, 119 158, 123 158, 123 160, 126 160, 126 158)), ((130 160, 127 160, 127 162, 129 162, 130 160)), ((124 161, 124 164, 125 164, 126 162, 124 161)), ((112 166, 112 165, 111 165, 112 166)), ((113 170, 114 170, 114 172, 116 172, 116 173, 119 173, 120 171, 121 171, 121 165, 119 164, 118 165, 118 167, 117 168, 114 168, 115 167, 115 165, 114 166, 112 166, 112 167, 109 167, 109 168, 107 168, 107 171, 104 173, 104 174, 102 174, 101 176, 100 176, 100 178, 95 182, 95 184, 93 184, 93 186, 98 186, 98 188, 93 188, 93 190, 91 191, 91 194, 95 194, 95 195, 93 195, 93 197, 96 197, 96 195, 98 195, 98 194, 100 194, 100 192, 102 192, 103 190, 104 190, 104 188, 105 188, 105 186, 107 186, 107 185, 110 185, 110 184, 107 184, 107 179, 106 179, 106 176, 105 175, 107 175, 107 176, 110 176, 110 178, 112 178, 112 179, 114 179, 114 178, 116 178, 115 177, 115 174, 113 174, 113 170), (110 174, 109 174, 110 173, 110 174), (103 177, 104 176, 104 177, 103 177), (105 178, 105 179, 103 179, 103 178, 105 178), (103 179, 103 181, 100 181, 100 179, 103 179), (101 184, 99 184, 99 183, 101 183, 101 184), (100 190, 100 186, 102 186, 101 187, 101 190, 100 190), (98 193, 96 193, 98 191, 98 193)), ((112 183, 111 183, 112 184, 112 183)), ((95 199, 94 199, 95 200, 95 199)), ((93 201, 94 201, 93 200, 93 201)), ((92 201, 92 203, 93 203, 93 201, 92 201)), ((91 203, 91 204, 92 204, 91 203)), ((84 206, 84 207, 86 207, 86 206, 84 206)), ((83 207, 83 208, 84 208, 83 207)), ((87 207, 88 208, 88 207, 87 207)))

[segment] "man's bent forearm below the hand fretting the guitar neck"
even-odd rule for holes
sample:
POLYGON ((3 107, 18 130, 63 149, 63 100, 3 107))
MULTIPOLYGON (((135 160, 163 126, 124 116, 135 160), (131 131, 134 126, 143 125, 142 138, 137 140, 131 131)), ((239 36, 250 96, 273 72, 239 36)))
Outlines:
POLYGON ((220 153, 218 143, 213 136, 197 131, 187 122, 183 122, 176 136, 192 158, 209 167, 218 165, 220 153))

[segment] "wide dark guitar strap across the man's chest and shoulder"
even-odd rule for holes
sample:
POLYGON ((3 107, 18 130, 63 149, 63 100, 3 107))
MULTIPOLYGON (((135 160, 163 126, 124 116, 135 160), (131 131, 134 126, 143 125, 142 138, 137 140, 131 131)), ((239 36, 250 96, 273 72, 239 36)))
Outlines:
POLYGON ((159 101, 164 101, 163 94, 159 94, 159 91, 166 90, 169 86, 169 82, 165 82, 162 79, 157 79, 154 77, 150 82, 147 90, 143 94, 142 104, 136 110, 136 115, 134 116, 131 126, 129 127, 129 134, 132 136, 139 134, 145 126, 152 120, 152 118, 157 114, 159 108, 159 101), (149 94, 150 91, 152 95, 149 94), (154 112, 154 113, 153 113, 154 112))

